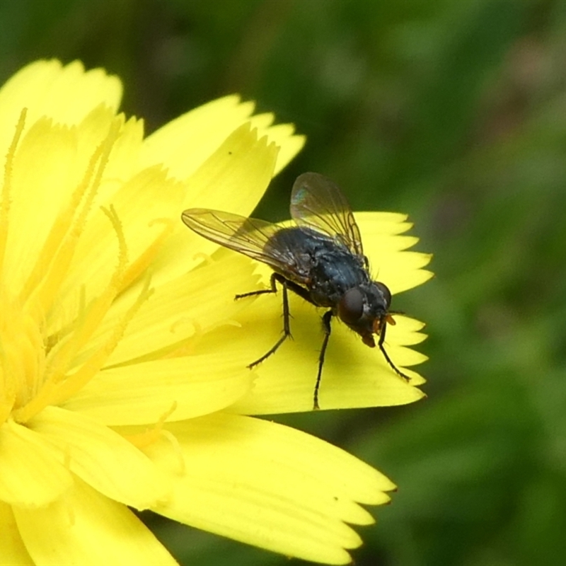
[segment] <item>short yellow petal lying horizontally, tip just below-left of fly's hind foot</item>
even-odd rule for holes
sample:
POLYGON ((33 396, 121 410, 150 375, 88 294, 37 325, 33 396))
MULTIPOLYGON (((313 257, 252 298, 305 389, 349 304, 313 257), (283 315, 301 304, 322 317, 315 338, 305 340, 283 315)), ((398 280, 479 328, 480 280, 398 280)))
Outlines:
POLYGON ((108 425, 207 415, 248 391, 253 374, 234 345, 214 354, 160 359, 100 372, 64 407, 108 425))

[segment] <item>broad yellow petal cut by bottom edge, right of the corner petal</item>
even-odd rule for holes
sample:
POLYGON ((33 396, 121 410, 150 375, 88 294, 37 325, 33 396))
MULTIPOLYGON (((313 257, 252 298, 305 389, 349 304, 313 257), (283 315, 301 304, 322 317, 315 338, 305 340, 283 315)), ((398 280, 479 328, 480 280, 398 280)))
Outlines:
POLYGON ((35 564, 177 564, 127 507, 79 480, 68 497, 14 515, 35 564))

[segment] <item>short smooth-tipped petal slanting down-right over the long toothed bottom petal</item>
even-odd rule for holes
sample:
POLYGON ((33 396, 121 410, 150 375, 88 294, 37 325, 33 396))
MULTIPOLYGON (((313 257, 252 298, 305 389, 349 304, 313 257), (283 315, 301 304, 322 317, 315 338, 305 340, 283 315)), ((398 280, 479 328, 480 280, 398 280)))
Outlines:
POLYGON ((93 419, 47 407, 30 428, 60 450, 62 461, 86 483, 118 502, 146 509, 164 499, 168 485, 141 452, 93 419))

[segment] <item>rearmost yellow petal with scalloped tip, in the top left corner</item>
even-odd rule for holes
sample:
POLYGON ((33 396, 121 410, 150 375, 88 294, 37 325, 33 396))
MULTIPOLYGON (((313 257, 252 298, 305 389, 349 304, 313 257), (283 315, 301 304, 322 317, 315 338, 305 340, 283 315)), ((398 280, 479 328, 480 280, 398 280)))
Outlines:
POLYGON ((28 127, 42 116, 65 125, 79 124, 100 104, 117 110, 122 83, 103 69, 85 71, 80 62, 36 61, 23 67, 0 88, 0 151, 6 154, 22 108, 28 127))

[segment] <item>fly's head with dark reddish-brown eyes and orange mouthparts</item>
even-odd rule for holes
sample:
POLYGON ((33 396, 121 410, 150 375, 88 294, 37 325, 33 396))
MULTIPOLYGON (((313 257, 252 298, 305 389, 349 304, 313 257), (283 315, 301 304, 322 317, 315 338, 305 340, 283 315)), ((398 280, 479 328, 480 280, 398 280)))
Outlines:
POLYGON ((338 317, 362 337, 362 342, 375 347, 374 334, 381 335, 386 323, 395 324, 389 314, 391 291, 379 281, 348 289, 338 303, 338 317))

